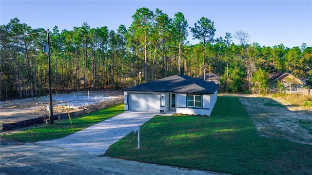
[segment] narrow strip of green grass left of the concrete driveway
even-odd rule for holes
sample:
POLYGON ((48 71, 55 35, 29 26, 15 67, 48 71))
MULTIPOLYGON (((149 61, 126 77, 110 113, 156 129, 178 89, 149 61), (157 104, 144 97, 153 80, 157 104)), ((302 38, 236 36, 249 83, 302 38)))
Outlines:
POLYGON ((30 128, 22 132, 8 135, 4 134, 1 136, 1 138, 22 142, 36 142, 62 138, 94 125, 100 121, 114 117, 122 112, 124 112, 124 106, 123 104, 118 104, 89 114, 74 117, 72 118, 73 126, 71 125, 69 119, 56 120, 54 124, 43 124, 39 127, 30 128))

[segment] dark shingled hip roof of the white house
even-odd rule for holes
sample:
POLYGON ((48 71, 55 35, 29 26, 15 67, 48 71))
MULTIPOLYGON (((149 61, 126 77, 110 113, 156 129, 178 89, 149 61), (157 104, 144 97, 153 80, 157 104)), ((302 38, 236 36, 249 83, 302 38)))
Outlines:
POLYGON ((214 94, 218 84, 184 75, 175 75, 124 88, 124 91, 214 94))

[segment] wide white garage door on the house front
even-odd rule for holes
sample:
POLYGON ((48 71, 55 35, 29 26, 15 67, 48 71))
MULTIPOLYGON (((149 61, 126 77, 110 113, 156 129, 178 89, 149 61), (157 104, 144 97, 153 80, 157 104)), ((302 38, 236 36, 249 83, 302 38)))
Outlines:
POLYGON ((160 94, 129 94, 129 110, 159 112, 160 94))

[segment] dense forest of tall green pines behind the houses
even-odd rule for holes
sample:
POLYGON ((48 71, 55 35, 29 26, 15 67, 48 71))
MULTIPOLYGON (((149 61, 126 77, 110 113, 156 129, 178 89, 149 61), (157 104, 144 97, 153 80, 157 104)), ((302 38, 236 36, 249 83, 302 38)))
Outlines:
MULTIPOLYGON (((36 97, 49 91, 50 41, 53 92, 121 89, 172 75, 221 77, 220 91, 260 92, 268 76, 288 72, 312 78, 312 47, 273 47, 249 43, 248 31, 215 38, 214 21, 202 17, 190 26, 183 13, 171 19, 161 10, 139 8, 127 29, 33 29, 18 18, 0 27, 0 99, 36 97), (190 44, 187 37, 199 40, 190 44), (48 40, 49 37, 49 40, 48 40), (238 39, 235 45, 233 39, 238 39)), ((308 84, 308 83, 307 83, 308 84)), ((308 84, 309 85, 309 84, 308 84)))

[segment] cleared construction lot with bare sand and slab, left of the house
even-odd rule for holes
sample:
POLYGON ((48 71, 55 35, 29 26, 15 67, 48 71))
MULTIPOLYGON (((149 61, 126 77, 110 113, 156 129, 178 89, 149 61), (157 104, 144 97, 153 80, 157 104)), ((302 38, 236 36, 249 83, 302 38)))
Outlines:
MULTIPOLYGON (((83 110, 84 107, 97 103, 102 100, 108 100, 115 97, 120 97, 123 92, 116 90, 103 91, 78 91, 69 94, 53 95, 53 114, 76 112, 83 110), (64 105, 72 108, 64 107, 64 105)), ((15 123, 22 120, 49 116, 47 105, 49 105, 49 97, 34 97, 26 99, 14 99, 9 102, 0 103, 0 128, 3 123, 15 123), (44 102, 42 104, 39 102, 44 102)))

